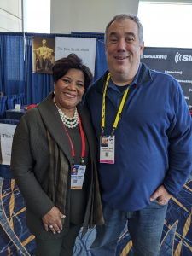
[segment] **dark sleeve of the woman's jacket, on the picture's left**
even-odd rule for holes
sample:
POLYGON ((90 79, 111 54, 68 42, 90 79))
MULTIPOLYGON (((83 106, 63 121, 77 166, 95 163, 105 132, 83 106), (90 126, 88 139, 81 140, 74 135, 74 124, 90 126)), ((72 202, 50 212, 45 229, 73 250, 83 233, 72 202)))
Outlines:
POLYGON ((15 129, 11 154, 11 171, 26 201, 26 206, 41 218, 54 207, 54 204, 42 189, 33 172, 36 163, 32 157, 32 148, 30 146, 32 142, 30 141, 29 133, 26 119, 23 117, 15 129))

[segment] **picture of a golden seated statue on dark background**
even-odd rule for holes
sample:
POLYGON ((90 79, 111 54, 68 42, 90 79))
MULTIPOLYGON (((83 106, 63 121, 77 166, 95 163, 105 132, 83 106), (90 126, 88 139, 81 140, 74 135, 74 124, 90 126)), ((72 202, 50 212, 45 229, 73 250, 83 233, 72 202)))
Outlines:
POLYGON ((55 38, 32 38, 32 72, 52 73, 55 63, 55 38))

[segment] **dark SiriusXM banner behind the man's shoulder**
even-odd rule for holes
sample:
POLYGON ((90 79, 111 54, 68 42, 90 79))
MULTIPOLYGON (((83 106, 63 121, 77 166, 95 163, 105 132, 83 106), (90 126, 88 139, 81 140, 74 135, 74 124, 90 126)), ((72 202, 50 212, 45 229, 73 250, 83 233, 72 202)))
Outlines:
POLYGON ((146 47, 141 61, 177 79, 192 110, 192 49, 146 47))

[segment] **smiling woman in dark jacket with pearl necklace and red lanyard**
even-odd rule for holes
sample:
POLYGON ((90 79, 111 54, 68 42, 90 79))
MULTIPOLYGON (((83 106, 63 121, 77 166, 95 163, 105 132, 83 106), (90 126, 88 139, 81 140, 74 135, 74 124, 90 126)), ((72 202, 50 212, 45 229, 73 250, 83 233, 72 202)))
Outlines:
POLYGON ((77 55, 55 62, 54 92, 20 119, 11 169, 26 201, 37 255, 72 255, 81 226, 103 224, 90 115, 80 102, 90 69, 77 55), (74 175, 73 169, 77 174, 74 175))

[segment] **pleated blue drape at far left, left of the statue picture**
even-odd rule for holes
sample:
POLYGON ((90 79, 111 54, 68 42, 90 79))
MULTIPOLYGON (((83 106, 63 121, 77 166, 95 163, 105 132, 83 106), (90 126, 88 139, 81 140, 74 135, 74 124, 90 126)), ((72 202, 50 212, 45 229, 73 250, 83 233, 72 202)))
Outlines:
POLYGON ((24 36, 0 33, 0 118, 15 104, 25 104, 24 36))

